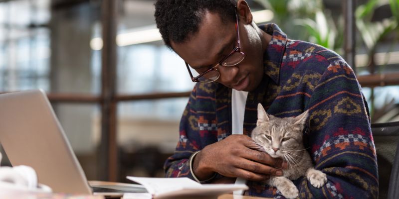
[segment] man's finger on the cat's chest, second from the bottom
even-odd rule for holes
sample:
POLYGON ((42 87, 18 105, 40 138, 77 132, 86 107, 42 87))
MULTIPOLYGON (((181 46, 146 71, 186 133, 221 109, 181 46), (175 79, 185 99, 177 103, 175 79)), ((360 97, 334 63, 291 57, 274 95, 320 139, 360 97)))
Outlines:
POLYGON ((280 169, 276 169, 258 162, 253 162, 247 159, 239 160, 240 164, 239 168, 244 169, 249 172, 258 173, 258 174, 266 174, 273 176, 282 176, 283 173, 280 169))

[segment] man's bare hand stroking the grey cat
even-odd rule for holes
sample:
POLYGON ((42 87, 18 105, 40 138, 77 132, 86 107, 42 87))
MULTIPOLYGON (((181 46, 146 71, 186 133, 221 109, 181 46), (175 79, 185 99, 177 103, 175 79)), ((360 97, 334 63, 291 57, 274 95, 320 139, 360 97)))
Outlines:
POLYGON ((283 173, 277 168, 286 168, 282 159, 270 157, 257 151, 259 148, 246 135, 230 135, 225 139, 210 144, 196 155, 193 172, 199 180, 206 180, 214 174, 251 181, 264 181, 283 173))

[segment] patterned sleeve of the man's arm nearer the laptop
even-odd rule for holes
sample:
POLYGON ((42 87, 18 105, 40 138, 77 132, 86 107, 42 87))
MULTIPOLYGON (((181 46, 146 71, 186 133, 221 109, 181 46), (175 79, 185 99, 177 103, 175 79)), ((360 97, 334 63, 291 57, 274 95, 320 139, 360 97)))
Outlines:
POLYGON ((180 121, 179 141, 175 153, 166 160, 164 165, 166 177, 168 178, 188 177, 195 180, 190 170, 190 158, 196 151, 200 150, 198 136, 195 136, 199 130, 194 107, 197 98, 197 88, 198 84, 194 87, 183 112, 180 121))

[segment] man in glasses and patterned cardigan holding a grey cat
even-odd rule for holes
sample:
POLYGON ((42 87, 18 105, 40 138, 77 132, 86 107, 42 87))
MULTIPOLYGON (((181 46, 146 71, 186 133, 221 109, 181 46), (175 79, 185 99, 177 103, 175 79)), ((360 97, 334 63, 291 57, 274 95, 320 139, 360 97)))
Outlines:
POLYGON ((309 109, 304 143, 328 182, 317 189, 306 178, 294 181, 300 198, 377 198, 366 101, 339 55, 287 39, 276 24, 257 27, 245 0, 157 0, 155 8, 166 45, 198 82, 176 152, 165 163, 167 177, 201 183, 244 179, 251 196, 281 196, 264 181, 282 175, 287 163, 257 151, 248 136, 260 102, 279 117, 309 109))

